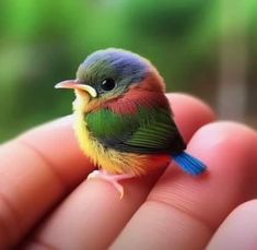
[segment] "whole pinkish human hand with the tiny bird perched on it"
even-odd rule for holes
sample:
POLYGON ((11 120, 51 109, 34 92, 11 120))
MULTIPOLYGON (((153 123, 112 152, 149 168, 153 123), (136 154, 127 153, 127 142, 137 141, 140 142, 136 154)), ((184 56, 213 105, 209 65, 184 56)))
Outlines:
POLYGON ((79 150, 72 117, 0 147, 0 249, 255 249, 257 133, 214 121, 202 102, 168 95, 188 152, 208 165, 192 178, 171 164, 122 181, 122 200, 79 150), (211 122, 211 123, 210 123, 211 122))

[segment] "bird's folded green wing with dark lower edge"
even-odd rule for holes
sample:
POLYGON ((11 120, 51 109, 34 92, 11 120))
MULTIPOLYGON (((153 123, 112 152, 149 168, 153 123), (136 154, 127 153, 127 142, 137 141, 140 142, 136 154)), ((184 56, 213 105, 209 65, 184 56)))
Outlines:
POLYGON ((135 115, 102 109, 85 119, 93 135, 106 147, 117 151, 151 154, 185 148, 170 111, 162 108, 141 107, 135 115))

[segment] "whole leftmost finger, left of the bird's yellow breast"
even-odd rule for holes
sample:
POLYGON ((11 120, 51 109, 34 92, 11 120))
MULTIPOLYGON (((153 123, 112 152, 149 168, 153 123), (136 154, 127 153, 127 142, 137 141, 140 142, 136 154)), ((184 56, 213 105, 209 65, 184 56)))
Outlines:
POLYGON ((0 147, 0 248, 16 242, 93 166, 78 147, 72 116, 0 147))

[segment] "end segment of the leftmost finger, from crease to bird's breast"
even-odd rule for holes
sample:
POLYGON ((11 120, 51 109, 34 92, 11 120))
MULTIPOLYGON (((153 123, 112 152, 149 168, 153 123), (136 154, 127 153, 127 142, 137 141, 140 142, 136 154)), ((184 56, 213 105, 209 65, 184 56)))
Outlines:
POLYGON ((16 138, 16 142, 27 145, 52 165, 69 187, 78 184, 93 169, 79 147, 72 129, 73 120, 73 116, 62 117, 16 138))

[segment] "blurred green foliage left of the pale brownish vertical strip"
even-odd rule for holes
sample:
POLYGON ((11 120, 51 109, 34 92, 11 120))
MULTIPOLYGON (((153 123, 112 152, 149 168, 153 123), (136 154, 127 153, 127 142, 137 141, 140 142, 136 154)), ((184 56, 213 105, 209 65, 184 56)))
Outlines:
MULTIPOLYGON (((71 93, 54 85, 74 78, 78 64, 100 48, 121 47, 148 57, 172 91, 214 83, 220 1, 2 0, 0 141, 69 114, 71 93)), ((244 2, 256 19, 254 0, 244 2)))

